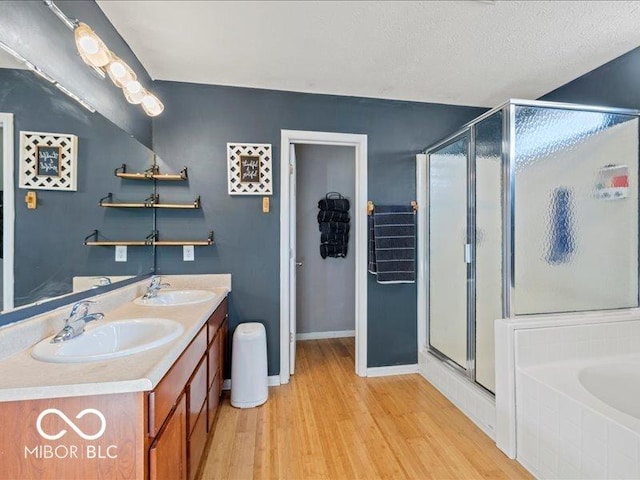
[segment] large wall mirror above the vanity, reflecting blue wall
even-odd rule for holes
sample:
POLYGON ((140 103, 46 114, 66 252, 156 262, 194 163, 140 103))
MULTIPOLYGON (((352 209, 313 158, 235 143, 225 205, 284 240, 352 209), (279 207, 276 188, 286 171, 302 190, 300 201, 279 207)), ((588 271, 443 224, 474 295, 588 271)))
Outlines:
MULTIPOLYGON (((127 261, 116 262, 114 247, 84 245, 85 237, 94 230, 105 240, 144 240, 153 231, 153 209, 99 205, 109 193, 114 200, 131 202, 154 194, 153 182, 126 180, 114 174, 122 164, 129 171, 150 168, 153 152, 100 113, 90 112, 55 85, 25 70, 10 55, 3 51, 0 55, 0 113, 13 114, 14 135, 8 141, 14 151, 11 181, 15 203, 14 232, 3 232, 5 248, 0 260, 6 262, 13 249, 14 278, 3 275, 2 280, 4 284, 13 281, 14 289, 11 297, 3 295, 3 316, 12 308, 72 293, 74 277, 88 277, 76 282, 78 291, 104 284, 106 280, 100 277, 119 281, 153 272, 152 246, 128 247, 127 261), (77 137, 76 191, 18 187, 21 131, 77 137), (30 191, 37 196, 35 209, 25 203, 30 191), (7 240, 11 236, 12 241, 7 240)), ((6 135, 0 138, 7 141, 6 135)), ((6 145, 0 148, 4 150, 6 145)), ((3 171, 4 175, 11 172, 3 171)), ((5 202, 4 216, 11 215, 6 208, 10 203, 5 202)), ((0 318, 3 323, 7 321, 0 318)))

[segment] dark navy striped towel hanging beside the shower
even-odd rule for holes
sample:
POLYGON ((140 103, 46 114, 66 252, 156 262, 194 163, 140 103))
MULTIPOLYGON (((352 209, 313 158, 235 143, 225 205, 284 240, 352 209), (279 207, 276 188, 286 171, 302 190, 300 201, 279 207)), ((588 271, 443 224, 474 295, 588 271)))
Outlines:
POLYGON ((415 283, 416 226, 411 205, 376 205, 373 213, 376 281, 415 283))

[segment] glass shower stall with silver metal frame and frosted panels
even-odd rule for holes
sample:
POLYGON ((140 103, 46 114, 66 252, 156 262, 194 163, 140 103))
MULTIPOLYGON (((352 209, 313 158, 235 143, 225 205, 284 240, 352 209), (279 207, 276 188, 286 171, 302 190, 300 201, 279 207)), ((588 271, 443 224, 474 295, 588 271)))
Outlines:
POLYGON ((426 151, 428 350, 491 392, 494 321, 638 307, 638 112, 511 100, 426 151))

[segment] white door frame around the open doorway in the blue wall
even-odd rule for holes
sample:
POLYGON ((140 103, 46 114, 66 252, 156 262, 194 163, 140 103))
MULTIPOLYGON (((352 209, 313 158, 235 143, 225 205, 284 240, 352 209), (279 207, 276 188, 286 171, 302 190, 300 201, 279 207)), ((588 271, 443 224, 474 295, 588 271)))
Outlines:
POLYGON ((303 130, 281 130, 280 132, 280 383, 289 383, 289 343, 291 338, 289 262, 291 258, 289 175, 295 175, 295 166, 290 169, 289 146, 332 145, 355 149, 356 185, 353 229, 355 233, 355 291, 356 291, 356 361, 355 372, 367 376, 367 135, 303 130))

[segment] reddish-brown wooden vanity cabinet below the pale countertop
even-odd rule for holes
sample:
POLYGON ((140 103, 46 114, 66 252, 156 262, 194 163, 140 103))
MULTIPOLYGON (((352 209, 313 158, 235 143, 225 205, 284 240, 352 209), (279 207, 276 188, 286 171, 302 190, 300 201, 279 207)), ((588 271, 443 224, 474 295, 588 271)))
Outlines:
POLYGON ((0 478, 194 480, 226 335, 225 299, 153 391, 0 403, 0 478))

